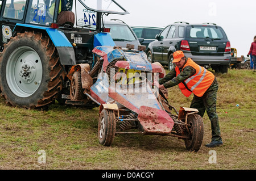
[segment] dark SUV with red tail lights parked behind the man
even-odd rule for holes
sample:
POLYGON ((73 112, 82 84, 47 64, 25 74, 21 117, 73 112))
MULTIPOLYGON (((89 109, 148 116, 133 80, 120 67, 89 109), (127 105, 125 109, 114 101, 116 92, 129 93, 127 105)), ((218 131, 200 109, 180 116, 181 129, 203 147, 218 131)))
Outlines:
POLYGON ((226 73, 231 61, 230 41, 224 30, 214 23, 170 24, 152 41, 146 50, 148 61, 158 61, 173 68, 172 53, 182 50, 197 64, 226 73))

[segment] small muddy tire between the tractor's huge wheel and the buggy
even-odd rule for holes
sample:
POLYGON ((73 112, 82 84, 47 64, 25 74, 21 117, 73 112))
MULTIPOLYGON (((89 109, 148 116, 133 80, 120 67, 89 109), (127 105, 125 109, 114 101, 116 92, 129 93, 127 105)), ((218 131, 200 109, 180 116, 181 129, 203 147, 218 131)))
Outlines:
POLYGON ((71 100, 82 100, 84 99, 84 90, 82 89, 81 71, 75 71, 71 79, 70 88, 70 99, 71 100))

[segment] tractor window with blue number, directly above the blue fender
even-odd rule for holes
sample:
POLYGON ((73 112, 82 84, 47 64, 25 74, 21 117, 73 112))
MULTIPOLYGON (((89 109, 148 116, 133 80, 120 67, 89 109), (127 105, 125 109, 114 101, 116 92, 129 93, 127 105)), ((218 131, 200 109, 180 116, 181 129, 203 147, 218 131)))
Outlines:
POLYGON ((32 0, 28 5, 26 23, 49 26, 53 22, 55 0, 32 0))

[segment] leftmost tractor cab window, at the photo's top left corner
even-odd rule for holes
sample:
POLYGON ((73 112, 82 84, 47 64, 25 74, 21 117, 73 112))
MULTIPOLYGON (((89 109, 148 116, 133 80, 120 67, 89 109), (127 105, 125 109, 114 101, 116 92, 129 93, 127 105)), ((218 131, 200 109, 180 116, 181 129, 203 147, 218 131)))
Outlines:
POLYGON ((22 19, 24 16, 25 5, 25 0, 7 0, 3 16, 5 18, 22 19))

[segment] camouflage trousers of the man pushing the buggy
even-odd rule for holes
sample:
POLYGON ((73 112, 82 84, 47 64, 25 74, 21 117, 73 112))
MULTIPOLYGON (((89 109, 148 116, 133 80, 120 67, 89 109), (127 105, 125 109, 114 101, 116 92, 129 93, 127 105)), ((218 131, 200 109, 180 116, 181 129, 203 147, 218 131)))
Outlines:
POLYGON ((198 97, 194 95, 191 102, 191 108, 196 108, 199 110, 199 115, 204 116, 205 111, 207 111, 208 117, 210 119, 212 128, 212 141, 222 141, 220 125, 218 124, 218 115, 216 113, 216 100, 217 100, 218 82, 216 78, 214 79, 212 85, 204 93, 203 96, 198 97))

